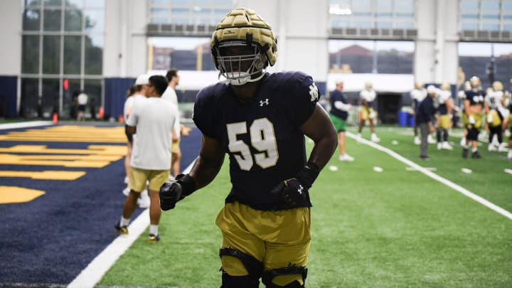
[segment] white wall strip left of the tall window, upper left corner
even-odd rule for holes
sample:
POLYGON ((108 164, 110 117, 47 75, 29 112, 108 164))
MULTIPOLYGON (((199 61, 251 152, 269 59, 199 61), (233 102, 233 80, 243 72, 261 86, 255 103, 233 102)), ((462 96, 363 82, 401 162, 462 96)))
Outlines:
POLYGON ((20 0, 1 0, 0 75, 21 73, 21 31, 23 9, 20 0))

